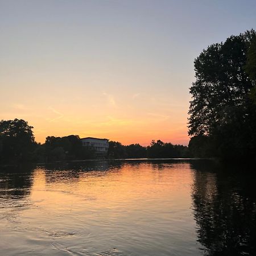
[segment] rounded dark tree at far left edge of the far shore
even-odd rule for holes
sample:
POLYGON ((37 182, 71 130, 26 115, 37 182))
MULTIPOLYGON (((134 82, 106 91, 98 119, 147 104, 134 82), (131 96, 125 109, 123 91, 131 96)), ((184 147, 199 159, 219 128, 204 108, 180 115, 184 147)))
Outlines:
POLYGON ((0 121, 0 159, 3 162, 31 159, 36 145, 32 129, 23 119, 0 121))

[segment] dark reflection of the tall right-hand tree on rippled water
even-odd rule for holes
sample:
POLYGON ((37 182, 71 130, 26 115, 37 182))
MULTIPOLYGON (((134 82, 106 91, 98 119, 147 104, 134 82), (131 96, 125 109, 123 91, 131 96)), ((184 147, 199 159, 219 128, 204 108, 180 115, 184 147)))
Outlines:
POLYGON ((255 255, 255 175, 209 162, 191 167, 193 212, 205 255, 255 255))

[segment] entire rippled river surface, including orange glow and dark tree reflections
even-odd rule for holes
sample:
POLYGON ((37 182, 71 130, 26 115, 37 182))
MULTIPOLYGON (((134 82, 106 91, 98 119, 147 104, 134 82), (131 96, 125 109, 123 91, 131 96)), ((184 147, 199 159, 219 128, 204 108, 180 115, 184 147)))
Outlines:
POLYGON ((1 255, 256 255, 253 170, 206 160, 0 169, 1 255))

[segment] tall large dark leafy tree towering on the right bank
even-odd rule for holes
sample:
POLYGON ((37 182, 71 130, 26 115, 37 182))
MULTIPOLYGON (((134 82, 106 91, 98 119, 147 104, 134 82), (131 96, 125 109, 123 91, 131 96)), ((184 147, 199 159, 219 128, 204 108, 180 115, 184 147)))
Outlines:
POLYGON ((255 36, 254 30, 230 36, 204 49, 194 63, 188 133, 210 137, 210 152, 217 156, 253 155, 255 150, 255 109, 249 97, 255 82, 245 71, 255 36))

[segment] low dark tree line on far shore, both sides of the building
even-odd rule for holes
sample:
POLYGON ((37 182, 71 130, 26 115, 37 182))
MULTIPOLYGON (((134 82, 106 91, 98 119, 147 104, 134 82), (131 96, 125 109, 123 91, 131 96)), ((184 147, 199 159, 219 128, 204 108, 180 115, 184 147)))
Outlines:
MULTIPOLYGON (((23 119, 0 121, 0 163, 56 162, 97 158, 93 147, 82 146, 78 135, 65 137, 48 136, 45 143, 35 142, 33 127, 23 119)), ((188 147, 152 141, 150 146, 123 145, 109 142, 107 159, 123 158, 187 158, 188 147)))

